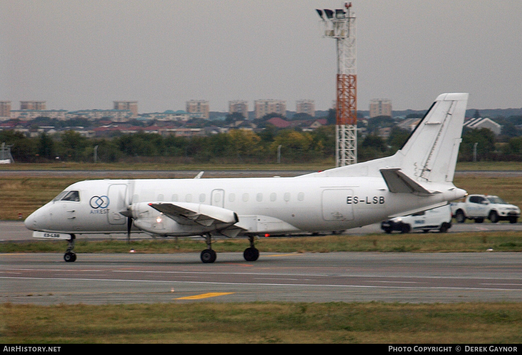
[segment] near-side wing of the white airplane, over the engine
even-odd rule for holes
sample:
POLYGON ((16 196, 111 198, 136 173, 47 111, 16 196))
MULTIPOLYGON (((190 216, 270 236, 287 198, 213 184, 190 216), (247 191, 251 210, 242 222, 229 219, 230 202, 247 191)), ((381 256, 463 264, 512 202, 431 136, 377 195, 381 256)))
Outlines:
POLYGON ((180 224, 199 224, 209 227, 212 224, 234 224, 238 222, 238 216, 229 209, 193 203, 150 203, 150 207, 162 212, 180 224))

